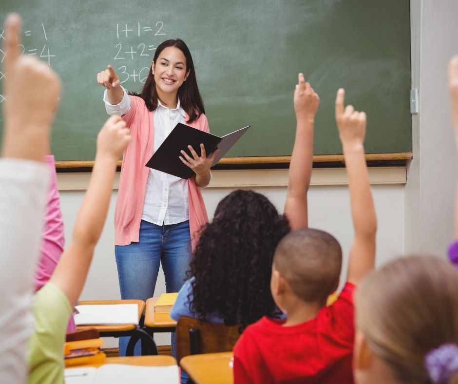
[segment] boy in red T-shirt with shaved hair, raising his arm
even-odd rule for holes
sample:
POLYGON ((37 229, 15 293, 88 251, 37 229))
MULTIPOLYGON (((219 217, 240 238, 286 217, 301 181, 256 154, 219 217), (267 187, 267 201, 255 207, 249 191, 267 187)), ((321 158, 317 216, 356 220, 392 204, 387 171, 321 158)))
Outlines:
POLYGON ((263 317, 248 326, 234 347, 237 383, 353 383, 353 292, 374 268, 376 216, 364 159, 364 112, 344 109, 336 98, 336 120, 349 179, 355 229, 347 282, 330 307, 338 286, 342 251, 321 230, 286 235, 275 250, 270 288, 286 320, 263 317))

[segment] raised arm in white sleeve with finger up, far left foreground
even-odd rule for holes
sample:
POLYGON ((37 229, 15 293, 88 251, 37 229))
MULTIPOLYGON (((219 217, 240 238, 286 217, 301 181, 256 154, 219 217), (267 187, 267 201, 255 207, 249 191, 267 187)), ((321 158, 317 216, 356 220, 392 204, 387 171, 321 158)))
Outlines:
POLYGON ((31 57, 20 57, 20 17, 5 20, 4 126, 0 159, 0 372, 4 383, 24 383, 32 332, 30 302, 48 169, 43 163, 60 81, 31 57))

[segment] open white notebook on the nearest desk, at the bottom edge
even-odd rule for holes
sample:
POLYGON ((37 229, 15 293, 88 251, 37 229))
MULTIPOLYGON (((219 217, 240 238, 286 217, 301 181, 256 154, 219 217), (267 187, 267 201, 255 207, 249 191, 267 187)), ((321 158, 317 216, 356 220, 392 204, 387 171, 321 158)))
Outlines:
POLYGON ((64 377, 65 384, 179 383, 177 365, 105 364, 98 368, 66 368, 64 377))

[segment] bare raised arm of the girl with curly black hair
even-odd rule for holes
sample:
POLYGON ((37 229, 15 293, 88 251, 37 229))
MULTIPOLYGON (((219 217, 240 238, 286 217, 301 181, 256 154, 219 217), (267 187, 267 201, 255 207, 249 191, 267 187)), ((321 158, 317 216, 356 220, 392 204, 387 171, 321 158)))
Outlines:
POLYGON ((297 126, 284 210, 291 230, 308 227, 307 191, 312 173, 313 124, 319 104, 320 97, 300 73, 294 90, 297 126))

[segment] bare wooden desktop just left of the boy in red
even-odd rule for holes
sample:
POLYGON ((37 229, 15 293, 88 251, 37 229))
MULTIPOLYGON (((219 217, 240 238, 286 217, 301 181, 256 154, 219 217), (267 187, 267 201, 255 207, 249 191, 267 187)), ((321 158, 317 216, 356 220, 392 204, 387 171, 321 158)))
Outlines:
POLYGON ((189 355, 181 359, 180 366, 195 384, 232 384, 232 356, 232 352, 189 355))

